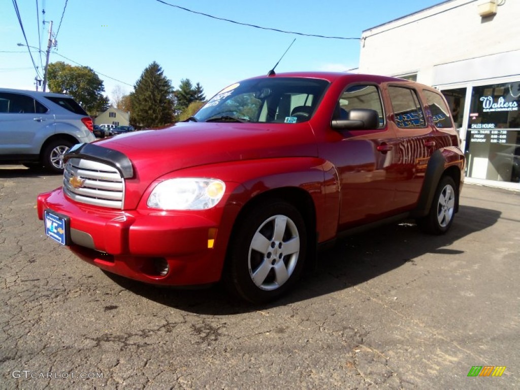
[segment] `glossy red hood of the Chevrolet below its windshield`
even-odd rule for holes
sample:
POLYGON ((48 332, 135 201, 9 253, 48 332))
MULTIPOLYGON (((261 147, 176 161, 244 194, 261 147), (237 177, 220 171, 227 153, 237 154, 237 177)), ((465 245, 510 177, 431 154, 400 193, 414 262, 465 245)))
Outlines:
MULTIPOLYGON (((150 183, 183 168, 229 161, 277 157, 315 157, 309 122, 178 123, 96 141, 126 155, 134 178, 126 180, 125 208, 134 208, 150 183)), ((217 177, 215 173, 214 177, 217 177)))

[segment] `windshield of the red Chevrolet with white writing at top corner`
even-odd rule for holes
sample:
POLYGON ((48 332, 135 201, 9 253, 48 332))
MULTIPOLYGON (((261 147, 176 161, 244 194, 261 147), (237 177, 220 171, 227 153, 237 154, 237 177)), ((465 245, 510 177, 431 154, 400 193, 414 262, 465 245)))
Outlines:
POLYGON ((308 121, 329 82, 269 77, 235 83, 213 96, 197 122, 298 123, 308 121))

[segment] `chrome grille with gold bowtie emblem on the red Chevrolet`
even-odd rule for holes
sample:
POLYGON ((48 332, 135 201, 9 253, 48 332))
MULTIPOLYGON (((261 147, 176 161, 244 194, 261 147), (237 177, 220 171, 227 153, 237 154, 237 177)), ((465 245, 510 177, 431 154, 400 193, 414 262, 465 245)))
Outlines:
POLYGON ((125 182, 116 168, 97 161, 72 158, 65 164, 63 192, 76 202, 123 209, 125 182), (75 188, 72 181, 81 181, 75 188))

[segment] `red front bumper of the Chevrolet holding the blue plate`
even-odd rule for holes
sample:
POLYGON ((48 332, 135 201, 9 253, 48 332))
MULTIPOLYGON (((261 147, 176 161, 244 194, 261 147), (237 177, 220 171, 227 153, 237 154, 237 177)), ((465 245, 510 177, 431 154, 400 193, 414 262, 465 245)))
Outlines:
POLYGON ((227 242, 220 232, 216 239, 222 209, 177 213, 112 210, 76 203, 61 189, 38 196, 38 218, 43 220, 47 209, 70 218, 69 248, 99 268, 163 285, 207 284, 220 279, 227 242))

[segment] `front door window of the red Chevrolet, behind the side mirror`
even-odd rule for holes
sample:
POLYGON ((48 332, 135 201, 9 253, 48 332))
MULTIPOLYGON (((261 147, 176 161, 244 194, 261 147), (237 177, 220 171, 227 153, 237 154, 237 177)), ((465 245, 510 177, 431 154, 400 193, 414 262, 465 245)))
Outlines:
POLYGON ((381 94, 375 85, 350 85, 340 96, 337 102, 333 119, 348 119, 348 112, 352 109, 363 108, 374 110, 379 116, 379 127, 384 126, 385 116, 381 94))

